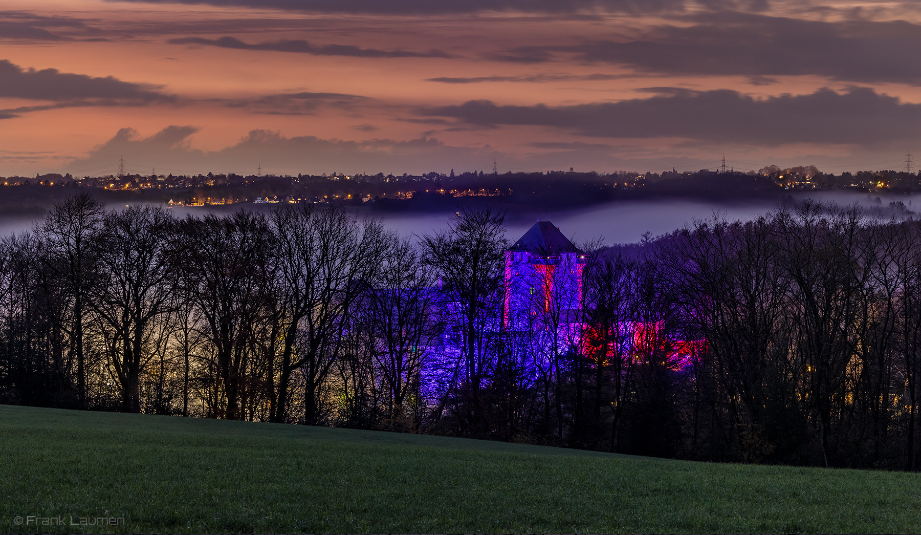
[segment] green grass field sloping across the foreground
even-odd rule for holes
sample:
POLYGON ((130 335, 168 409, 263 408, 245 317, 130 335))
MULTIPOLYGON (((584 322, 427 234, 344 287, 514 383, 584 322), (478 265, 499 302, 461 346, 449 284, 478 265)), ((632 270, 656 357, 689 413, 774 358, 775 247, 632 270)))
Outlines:
POLYGON ((0 531, 919 530, 917 474, 0 405, 0 531))

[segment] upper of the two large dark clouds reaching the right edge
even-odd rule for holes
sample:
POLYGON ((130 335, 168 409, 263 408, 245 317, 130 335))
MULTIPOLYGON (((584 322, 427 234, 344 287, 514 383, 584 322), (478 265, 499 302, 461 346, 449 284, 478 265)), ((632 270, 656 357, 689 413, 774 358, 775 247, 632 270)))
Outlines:
MULTIPOLYGON (((699 20, 693 17, 692 20, 699 20)), ((921 26, 888 22, 819 22, 740 13, 710 14, 692 26, 662 26, 628 42, 522 46, 488 57, 542 63, 555 54, 671 75, 828 76, 857 82, 921 84, 921 26)))

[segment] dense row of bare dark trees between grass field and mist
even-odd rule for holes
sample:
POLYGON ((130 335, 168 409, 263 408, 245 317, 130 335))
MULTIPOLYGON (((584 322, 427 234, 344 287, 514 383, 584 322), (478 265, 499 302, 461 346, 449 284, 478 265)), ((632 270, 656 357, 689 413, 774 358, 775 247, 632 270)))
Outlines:
POLYGON ((532 292, 515 331, 504 233, 78 193, 0 240, 0 402, 919 468, 919 222, 806 202, 585 245, 584 306, 532 292))

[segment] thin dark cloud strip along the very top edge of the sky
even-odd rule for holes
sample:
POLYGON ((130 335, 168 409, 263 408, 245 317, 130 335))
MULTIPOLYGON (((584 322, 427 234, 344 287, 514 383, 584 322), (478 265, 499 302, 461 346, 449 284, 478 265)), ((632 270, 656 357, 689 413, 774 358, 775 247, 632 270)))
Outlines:
POLYGON ((332 13, 437 14, 480 11, 574 13, 602 10, 624 13, 656 13, 681 10, 686 4, 758 6, 758 1, 707 0, 129 0, 138 3, 207 4, 332 13))

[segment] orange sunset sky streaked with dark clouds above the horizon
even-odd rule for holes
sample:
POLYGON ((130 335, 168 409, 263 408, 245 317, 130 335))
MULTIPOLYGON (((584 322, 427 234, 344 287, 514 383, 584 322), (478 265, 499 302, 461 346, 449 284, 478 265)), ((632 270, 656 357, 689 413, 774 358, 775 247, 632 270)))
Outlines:
POLYGON ((921 2, 0 9, 0 176, 921 162, 921 2))

